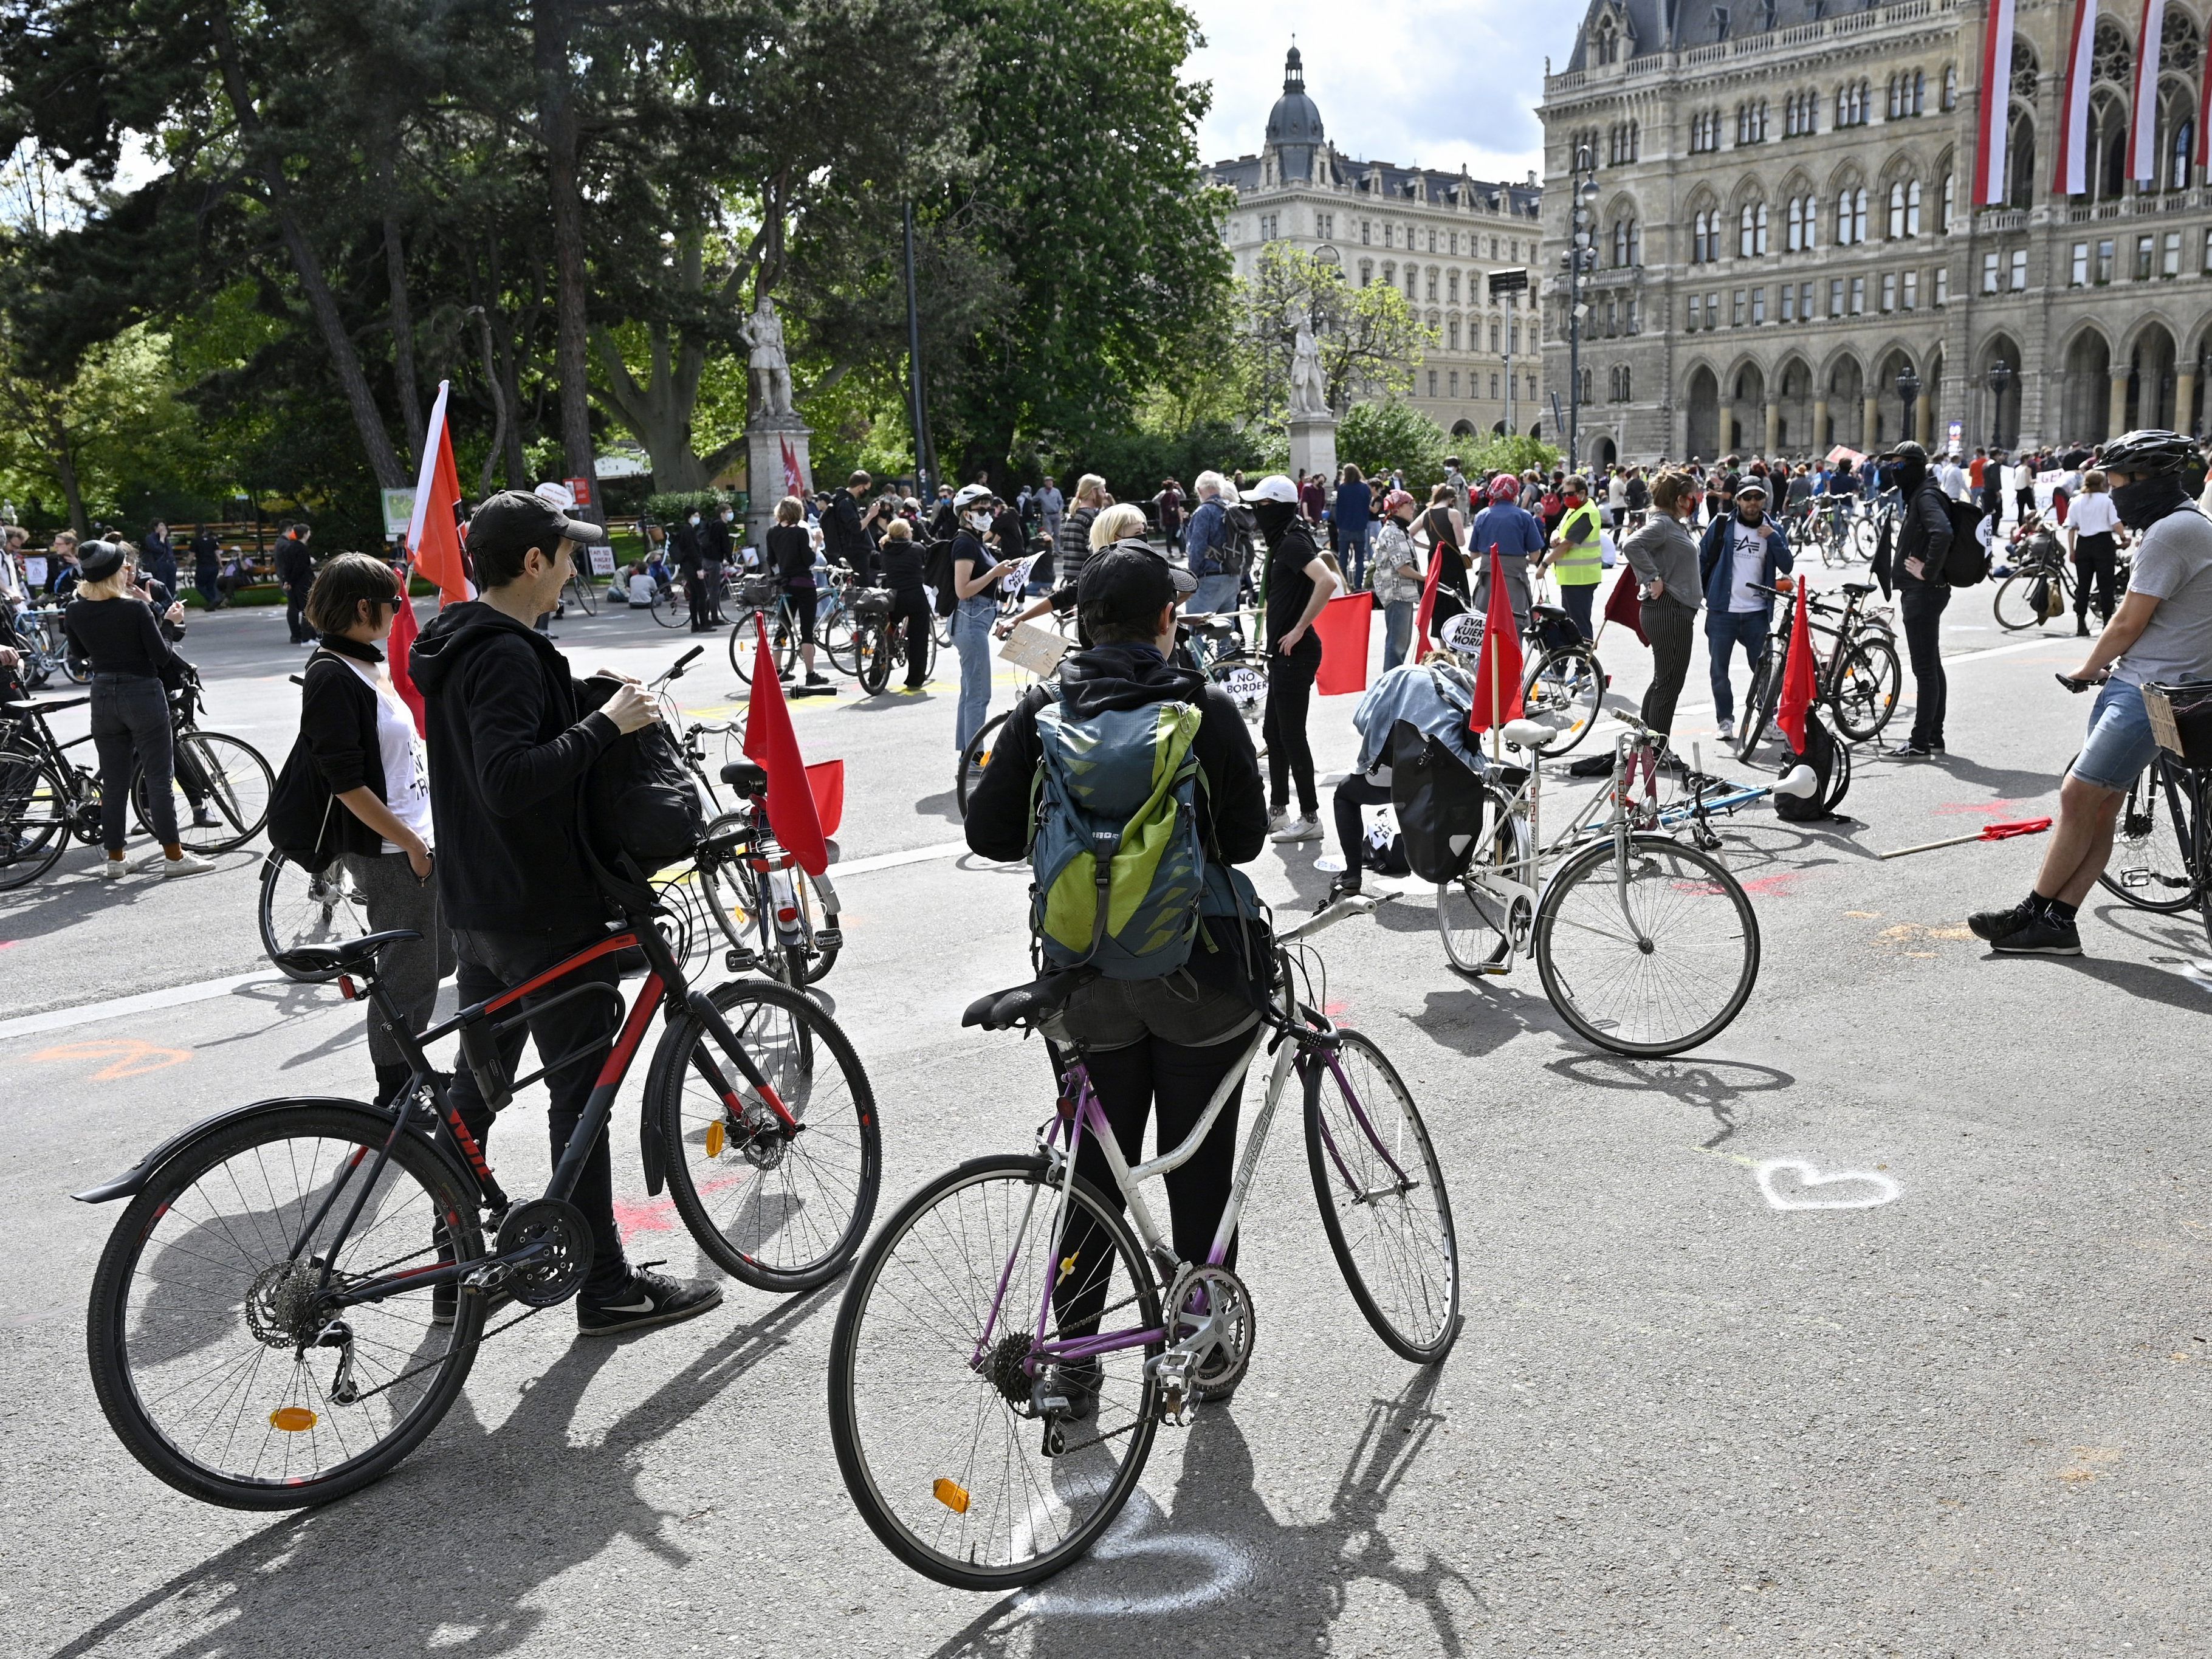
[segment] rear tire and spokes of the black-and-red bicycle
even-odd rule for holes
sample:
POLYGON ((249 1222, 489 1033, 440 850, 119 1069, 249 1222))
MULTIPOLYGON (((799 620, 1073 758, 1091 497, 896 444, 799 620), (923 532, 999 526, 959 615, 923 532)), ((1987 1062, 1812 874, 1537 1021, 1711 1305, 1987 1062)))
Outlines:
MULTIPOLYGON (((418 1340, 442 1340, 442 1358, 434 1356, 434 1369, 429 1380, 420 1387, 409 1387, 409 1383, 398 1383, 383 1394, 369 1396, 369 1400, 358 1402, 363 1420, 352 1425, 354 1436, 361 1436, 383 1411, 394 1411, 387 1433, 378 1433, 374 1444, 361 1453, 352 1453, 349 1444, 358 1440, 345 1440, 338 1433, 334 1411, 354 1411, 352 1405, 336 1405, 330 1400, 330 1391, 319 1387, 319 1371, 325 1367, 336 1371, 336 1358, 330 1349, 305 1347, 294 1352, 292 1365, 285 1367, 281 1358, 268 1365, 270 1356, 285 1354, 292 1343, 272 1343, 268 1336, 259 1336, 250 1321, 263 1318, 274 1321, 283 1314, 283 1301, 288 1294, 288 1279, 296 1279, 299 1270, 292 1274, 279 1274, 274 1281, 272 1272, 285 1265, 281 1241, 288 1237, 283 1219, 294 1212, 299 1221, 305 1221, 307 1199, 316 1197, 314 1175, 323 1166, 325 1152, 323 1144, 334 1141, 336 1148, 374 1148, 383 1146, 389 1135, 392 1119, 383 1113, 374 1113, 367 1106, 354 1106, 345 1102, 299 1102, 285 1108, 276 1108, 246 1121, 232 1124, 208 1133, 206 1137, 184 1146, 173 1155, 161 1168, 157 1168, 144 1190, 131 1201, 124 1214, 117 1219, 115 1230, 108 1234, 106 1250, 100 1254, 100 1267, 93 1274, 93 1292, 86 1307, 86 1356, 93 1369, 93 1391, 100 1398, 100 1409, 106 1413, 108 1425, 115 1436, 124 1442, 133 1458, 137 1458, 148 1473, 175 1486, 177 1491, 197 1498, 206 1504, 221 1504, 223 1509, 301 1509, 305 1504, 325 1504, 334 1498, 343 1498, 349 1491, 367 1486, 372 1480, 389 1473, 409 1451, 414 1451, 438 1420, 447 1413, 453 1400, 460 1396, 460 1387, 469 1376, 469 1367, 476 1363, 476 1338, 482 1329, 484 1303, 480 1296, 460 1296, 458 1310, 451 1325, 431 1325, 427 1321, 429 1292, 403 1292, 378 1303, 361 1303, 345 1310, 345 1321, 356 1327, 374 1327, 383 1336, 372 1338, 374 1354, 361 1356, 356 1345, 356 1360, 361 1363, 365 1385, 376 1385, 380 1378, 378 1367, 392 1367, 398 1374, 400 1365, 407 1365, 420 1349, 405 1347, 407 1332, 416 1327, 416 1321, 407 1318, 409 1312, 422 1310, 425 1318, 420 1329, 425 1332, 418 1340), (314 1141, 310 1152, 301 1152, 303 1141, 314 1141), (252 1228, 230 1228, 226 1210, 221 1203, 221 1186, 212 1183, 208 1192, 199 1192, 201 1177, 212 1170, 228 1166, 232 1157, 243 1157, 250 1150, 265 1146, 283 1146, 285 1157, 279 1159, 257 1159, 252 1179, 237 1186, 239 1199, 234 1208, 254 1219, 252 1228), (296 1179, 301 1164, 307 1168, 307 1181, 296 1179), (305 1186, 294 1199, 276 1199, 276 1183, 290 1181, 292 1186, 305 1186), (272 1199, 272 1221, 263 1223, 263 1212, 252 1210, 252 1199, 246 1192, 268 1192, 272 1199), (195 1201, 197 1194, 197 1201, 195 1201), (188 1252, 184 1245, 164 1243, 164 1239, 190 1237, 206 1228, 206 1221, 192 1221, 190 1210, 195 1203, 204 1203, 212 1210, 217 1219, 223 1219, 223 1228, 210 1230, 210 1239, 221 1234, 221 1243, 210 1243, 210 1250, 219 1254, 188 1252), (186 1225, 190 1221, 190 1225, 186 1225), (274 1234, 265 1228, 274 1225, 274 1234), (157 1248, 157 1267, 150 1276, 150 1294, 168 1296, 170 1307, 159 1307, 155 1303, 159 1318, 146 1316, 146 1305, 133 1305, 133 1283, 137 1283, 139 1265, 148 1259, 148 1248, 157 1248), (268 1254, 270 1259, 261 1263, 259 1272, 248 1272, 257 1265, 259 1256, 254 1252, 268 1254), (228 1252, 228 1254, 221 1254, 228 1252), (237 1259, 232 1265, 230 1259, 237 1259), (206 1301, 195 1307, 190 1303, 175 1303, 179 1287, 190 1292, 192 1285, 206 1287, 206 1301), (219 1298, 219 1301, 217 1301, 219 1298), (252 1305, 254 1312, 248 1312, 252 1305), (212 1327, 212 1336, 201 1336, 188 1340, 188 1321, 195 1314, 204 1314, 204 1325, 212 1327), (179 1360, 188 1374, 197 1374, 201 1380, 208 1374, 208 1347, 212 1343, 226 1340, 228 1327, 230 1349, 241 1354, 230 1365, 230 1371, 246 1371, 226 1394, 226 1407, 230 1398, 252 1391, 252 1407, 259 1409, 263 1402, 276 1400, 276 1411, 296 1407, 303 1400, 314 1400, 321 1411, 310 1407, 310 1418, 305 1429, 285 1429, 276 1425, 274 1411, 270 1413, 270 1429, 283 1436, 281 1440, 270 1440, 263 1431, 261 1447, 276 1447, 283 1458, 274 1475, 263 1475, 259 1462, 250 1469, 219 1469, 201 1458, 195 1458, 190 1449, 179 1447, 173 1429, 175 1422, 164 1422, 148 1407, 142 1383, 155 1380, 155 1367, 164 1360, 164 1345, 173 1349, 166 1358, 179 1360), (431 1338, 429 1334, 438 1336, 431 1338), (385 1340, 389 1338, 389 1343, 385 1340), (398 1352, 407 1358, 389 1360, 385 1349, 398 1352), (133 1354, 144 1354, 144 1367, 139 1367, 133 1354), (252 1365, 248 1367, 248 1360, 252 1365), (263 1376, 270 1371, 272 1376, 263 1376), (290 1371, 290 1376, 283 1376, 290 1371), (305 1385, 305 1387, 301 1387, 305 1385), (374 1407, 372 1402, 387 1400, 394 1405, 374 1407), (314 1436, 323 1427, 323 1418, 332 1416, 332 1438, 338 1440, 338 1451, 343 1453, 336 1464, 323 1469, 314 1475, 301 1475, 292 1467, 292 1444, 294 1436, 314 1436)), ((345 1152, 332 1157, 332 1175, 336 1175, 338 1164, 345 1161, 345 1152)), ((436 1232, 425 1232, 429 1239, 427 1250, 442 1250, 451 1245, 451 1252, 460 1261, 476 1261, 484 1254, 482 1232, 476 1221, 478 1194, 469 1190, 462 1177, 445 1161, 445 1157, 418 1135, 400 1135, 394 1144, 392 1161, 385 1166, 389 1177, 389 1192, 398 1194, 398 1203, 414 1206, 416 1199, 403 1190, 403 1179, 411 1183, 411 1192, 422 1194, 422 1225, 427 1230, 438 1228, 445 1234, 440 1243, 436 1232), (398 1177, 392 1177, 398 1170, 398 1177)), ((234 1172, 232 1172, 234 1175, 234 1172)), ((387 1190, 387 1188, 378 1188, 387 1190)), ((323 1219, 325 1228, 336 1228, 345 1221, 345 1210, 349 1206, 332 1206, 332 1214, 323 1219)), ((367 1210, 363 1214, 369 1214, 367 1210)), ((403 1228, 398 1234, 378 1237, 385 1232, 387 1223, 398 1214, 389 1203, 376 1203, 376 1221, 363 1232, 352 1234, 343 1250, 367 1245, 367 1265, 387 1272, 394 1265, 394 1252, 405 1252, 411 1243, 411 1234, 403 1228)), ((334 1259, 334 1265, 343 1265, 347 1256, 334 1259)), ((414 1254, 427 1254, 427 1250, 416 1250, 414 1254)), ((312 1252, 310 1252, 312 1254, 312 1252)), ((400 1254, 400 1261, 407 1256, 400 1254)), ((294 1321, 296 1323, 296 1321, 294 1321)), ((281 1334, 281 1332, 272 1332, 281 1334)), ((358 1336, 358 1332, 356 1332, 358 1336)), ((181 1383, 177 1387, 184 1387, 181 1383)), ((159 1396, 155 1405, 166 1400, 159 1396)), ((181 1407, 179 1407, 181 1411, 181 1407)), ((232 1442, 239 1438, 237 1429, 246 1427, 252 1411, 239 1409, 239 1422, 232 1427, 232 1442)), ((314 1436, 310 1449, 321 1440, 314 1436)), ((230 1447, 226 1444, 226 1451, 230 1447)), ((243 1458, 243 1451, 239 1453, 243 1458)))

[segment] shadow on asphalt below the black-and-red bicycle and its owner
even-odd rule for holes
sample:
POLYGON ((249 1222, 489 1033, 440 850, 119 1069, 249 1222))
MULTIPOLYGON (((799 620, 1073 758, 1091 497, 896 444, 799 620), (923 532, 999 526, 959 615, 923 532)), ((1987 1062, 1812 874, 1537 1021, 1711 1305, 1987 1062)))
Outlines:
MULTIPOLYGON (((657 1509, 637 1491, 639 1453, 785 1347, 799 1325, 834 1305, 836 1290, 825 1285, 734 1327, 595 1442, 573 1442, 571 1425, 593 1378, 626 1343, 575 1343, 495 1429, 462 1391, 429 1442, 387 1480, 263 1526, 117 1608, 51 1659, 108 1646, 170 1659, 365 1652, 369 1632, 387 1652, 513 1652, 544 1617, 524 1606, 529 1595, 617 1542, 692 1566, 670 1528, 699 1515, 657 1509), (456 1444, 471 1429, 473 1440, 456 1444), (190 1635, 179 1639, 179 1628, 190 1635)), ((551 1316, 564 1318, 568 1307, 551 1316)))

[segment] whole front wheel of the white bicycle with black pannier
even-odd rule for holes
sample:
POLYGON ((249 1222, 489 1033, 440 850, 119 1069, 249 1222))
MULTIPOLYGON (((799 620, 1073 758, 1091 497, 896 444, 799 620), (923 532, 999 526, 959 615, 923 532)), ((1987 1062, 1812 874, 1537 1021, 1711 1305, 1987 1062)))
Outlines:
POLYGON ((1582 1037, 1619 1055, 1710 1042, 1759 978, 1759 918, 1728 865, 1670 836, 1595 841, 1535 909, 1544 993, 1582 1037))

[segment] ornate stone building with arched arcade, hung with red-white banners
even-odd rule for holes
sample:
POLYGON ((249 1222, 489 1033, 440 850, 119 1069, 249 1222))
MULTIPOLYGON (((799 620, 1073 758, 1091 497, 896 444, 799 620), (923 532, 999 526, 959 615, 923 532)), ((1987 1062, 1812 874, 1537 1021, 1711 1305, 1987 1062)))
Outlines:
MULTIPOLYGON (((2068 197, 2073 15, 2017 0, 2006 201, 1978 208, 1978 0, 1595 0, 1542 102, 1548 246, 1577 155, 1597 184, 1584 456, 1936 447, 1953 422, 1969 449, 2203 431, 2212 188, 2192 157, 2212 4, 2168 0, 2157 177, 2137 184, 2141 9, 2104 0, 2088 190, 2068 197)), ((1564 403, 1564 292, 1546 305, 1564 403)))

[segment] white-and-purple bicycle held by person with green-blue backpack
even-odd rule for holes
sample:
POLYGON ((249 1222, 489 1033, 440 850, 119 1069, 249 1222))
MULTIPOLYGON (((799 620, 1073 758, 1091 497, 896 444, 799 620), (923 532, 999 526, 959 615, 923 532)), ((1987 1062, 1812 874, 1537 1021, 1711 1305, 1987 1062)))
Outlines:
MULTIPOLYGON (((1338 900, 1279 942, 1301 947, 1365 909, 1371 900, 1338 900)), ((962 1026, 1035 1031, 1084 978, 1068 969, 993 991, 962 1026)), ((1436 1148, 1383 1051, 1318 1002, 1298 995, 1279 949, 1243 1060, 1190 1137, 1137 1168, 1082 1048, 1048 1044, 1060 1104, 1037 1150, 947 1170, 869 1243, 830 1340, 830 1438, 863 1520, 907 1566, 971 1590, 1051 1577, 1113 1524, 1159 1425, 1183 1425, 1194 1402, 1237 1387, 1256 1316, 1245 1279, 1223 1263, 1292 1068, 1323 1232, 1354 1303, 1402 1358, 1438 1365, 1451 1352, 1458 1239, 1436 1148), (1206 1261, 1177 1261, 1139 1188, 1199 1150, 1263 1048, 1274 1055, 1267 1095, 1212 1248, 1206 1261), (1075 1172, 1084 1135, 1097 1139, 1126 1219, 1075 1172), (1084 1234, 1062 1256, 1071 1225, 1084 1234), (1086 1263, 1093 1239, 1102 1248, 1086 1263)))

